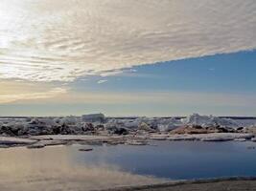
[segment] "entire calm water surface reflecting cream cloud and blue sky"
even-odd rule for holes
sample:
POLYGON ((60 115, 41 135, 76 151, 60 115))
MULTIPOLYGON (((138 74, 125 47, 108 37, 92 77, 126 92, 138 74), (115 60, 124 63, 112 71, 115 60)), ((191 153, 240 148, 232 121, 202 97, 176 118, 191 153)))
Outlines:
POLYGON ((157 146, 0 150, 0 190, 90 190, 230 176, 256 176, 254 142, 153 141, 157 146))

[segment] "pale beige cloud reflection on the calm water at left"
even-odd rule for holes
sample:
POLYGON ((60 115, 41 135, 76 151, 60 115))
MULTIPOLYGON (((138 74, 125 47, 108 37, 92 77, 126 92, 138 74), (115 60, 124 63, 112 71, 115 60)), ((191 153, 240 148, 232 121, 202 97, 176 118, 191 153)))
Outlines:
MULTIPOLYGON (((77 148, 1 149, 0 190, 88 190, 160 182, 123 172, 116 165, 74 162, 77 148)), ((89 153, 82 153, 87 155, 89 153)))

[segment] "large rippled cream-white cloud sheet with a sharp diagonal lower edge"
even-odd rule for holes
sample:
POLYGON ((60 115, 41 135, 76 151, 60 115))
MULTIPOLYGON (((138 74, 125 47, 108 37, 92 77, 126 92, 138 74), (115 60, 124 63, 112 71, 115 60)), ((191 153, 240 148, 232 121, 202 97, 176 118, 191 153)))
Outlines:
POLYGON ((2 79, 70 81, 256 48, 255 0, 1 0, 0 23, 2 79))

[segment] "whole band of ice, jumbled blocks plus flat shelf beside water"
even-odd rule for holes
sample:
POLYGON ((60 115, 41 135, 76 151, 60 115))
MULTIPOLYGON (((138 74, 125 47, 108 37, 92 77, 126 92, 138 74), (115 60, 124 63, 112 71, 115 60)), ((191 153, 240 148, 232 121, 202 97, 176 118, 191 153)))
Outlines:
POLYGON ((129 145, 144 145, 147 139, 256 141, 256 138, 254 138, 256 135, 255 124, 255 119, 234 120, 222 117, 200 116, 198 114, 182 119, 175 117, 107 119, 102 114, 84 115, 82 117, 9 118, 8 120, 1 120, 0 118, 0 135, 2 134, 0 146, 26 145, 29 148, 42 148, 44 146, 67 144, 70 142, 80 142, 81 144, 82 142, 108 142, 109 144, 127 143, 129 145), (176 128, 179 129, 176 132, 173 131, 176 128), (192 134, 192 131, 179 131, 182 128, 198 128, 204 131, 200 132, 203 134, 192 134), (224 128, 226 131, 212 131, 219 130, 220 128, 224 128), (113 132, 123 131, 128 136, 124 136, 123 133, 120 133, 119 136, 112 136, 113 134, 118 134, 113 132), (181 134, 177 134, 178 132, 181 134))

